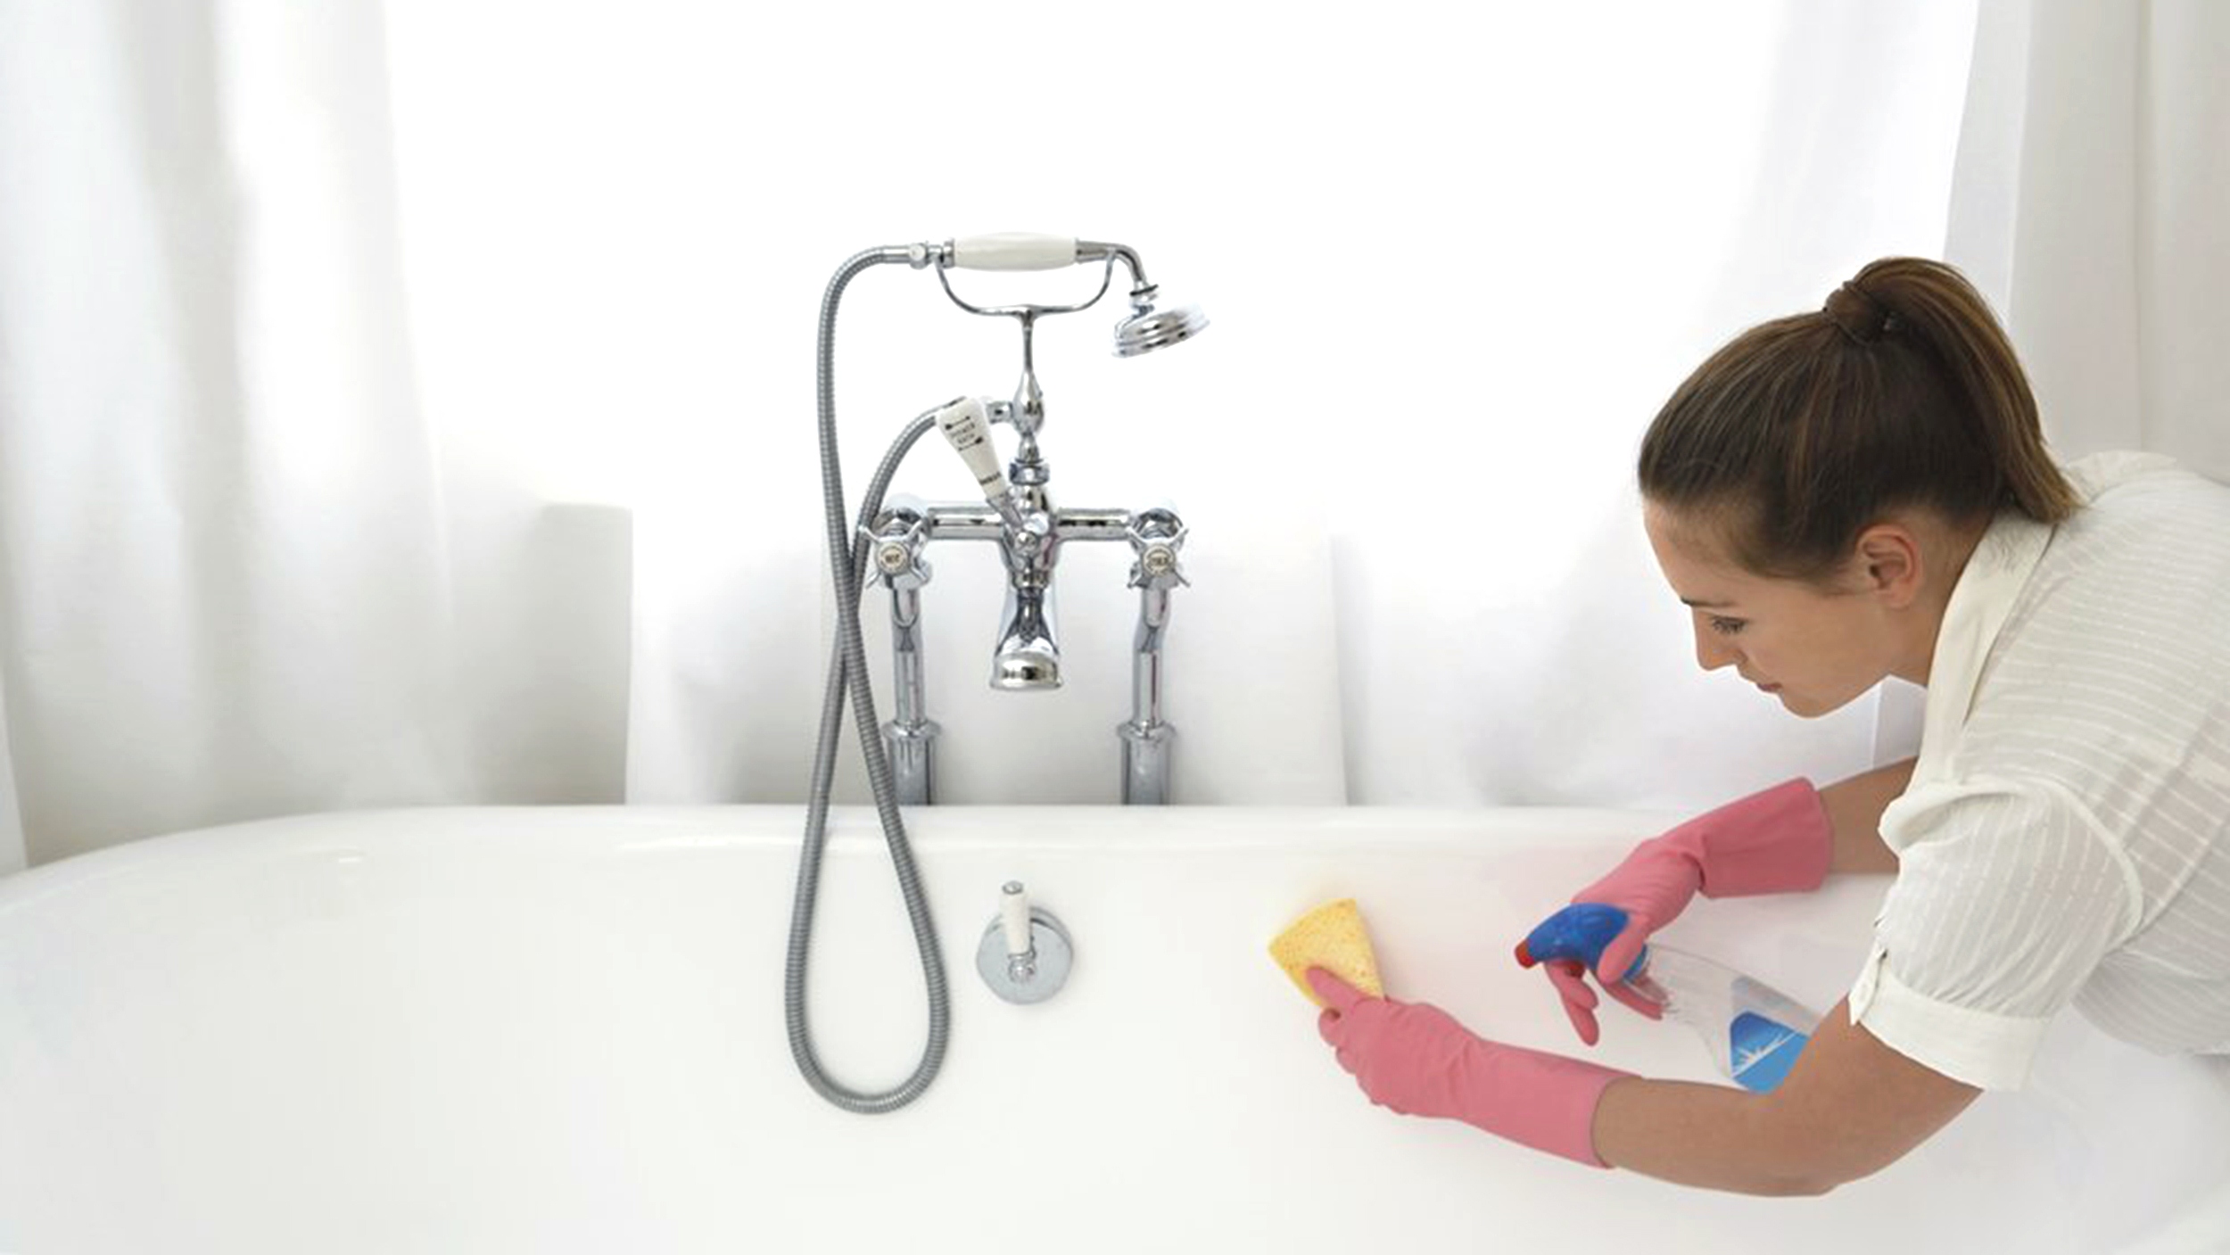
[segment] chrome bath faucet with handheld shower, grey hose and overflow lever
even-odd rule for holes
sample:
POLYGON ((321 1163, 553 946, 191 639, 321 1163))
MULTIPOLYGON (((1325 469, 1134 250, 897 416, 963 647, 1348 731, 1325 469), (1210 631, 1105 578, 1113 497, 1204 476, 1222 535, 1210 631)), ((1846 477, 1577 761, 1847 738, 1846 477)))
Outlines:
MULTIPOLYGON (((1162 722, 1160 709, 1162 633, 1169 624, 1169 588, 1184 584, 1180 566, 1184 524, 1171 510, 1142 510, 1137 515, 1131 510, 1057 510, 1046 493, 1053 468, 1037 448, 1037 430, 1046 421, 1046 397, 1037 388, 1037 370, 1030 363, 1030 337, 1037 319, 1075 312, 1106 296, 1117 261, 1131 270, 1131 317, 1115 325, 1115 357, 1137 357, 1180 343, 1209 325, 1195 308, 1160 310, 1155 305, 1157 290, 1146 281, 1146 270, 1128 247, 1057 236, 972 236, 941 245, 872 247, 838 265, 821 296, 814 390, 821 430, 821 506, 836 591, 836 658, 830 660, 830 680, 821 695, 821 733, 814 742, 814 774, 805 802, 798 889, 789 909, 783 1021, 789 1030, 789 1057, 805 1083, 850 1112, 881 1115, 919 1099, 943 1068, 952 1025, 943 947, 937 943, 928 889, 914 865, 912 843, 905 838, 905 820, 899 814, 901 802, 930 800, 932 749, 939 733, 921 700, 921 588, 930 582, 930 566, 921 560, 921 551, 932 539, 999 542, 1008 568, 1008 604, 999 644, 992 651, 992 682, 1021 689, 1046 689, 1061 682, 1061 653, 1053 640, 1053 564, 1061 544, 1070 539, 1131 542, 1137 551, 1131 586, 1140 588, 1140 631, 1133 660, 1131 722, 1117 729, 1124 742, 1124 800, 1169 800, 1169 740, 1173 733, 1162 722), (1106 270, 1099 279, 1099 292, 1082 305, 979 310, 961 301, 946 276, 948 267, 1057 270, 1086 261, 1099 261, 1106 270), (836 441, 836 312, 845 288, 879 265, 912 265, 914 270, 934 265, 946 294, 963 310, 1021 321, 1021 386, 1012 401, 986 403, 961 397, 914 417, 870 479, 859 515, 847 517, 843 459, 836 441), (1021 435, 1021 450, 1006 473, 999 470, 999 457, 990 444, 992 421, 1012 424, 1021 435), (943 428, 952 448, 968 461, 983 488, 981 506, 930 506, 903 497, 890 497, 885 506, 890 477, 930 426, 943 428), (867 682, 867 658, 859 631, 859 600, 867 577, 876 577, 890 588, 892 651, 899 678, 899 718, 881 729, 881 738, 876 738, 874 687, 867 682), (827 852, 830 791, 836 778, 836 740, 847 691, 861 733, 861 756, 867 760, 867 787, 874 791, 876 820, 890 847, 892 872, 899 876, 899 894, 905 898, 914 947, 921 952, 921 983, 930 1001, 921 1061, 905 1081, 881 1092, 854 1090, 821 1066, 805 1014, 805 974, 812 956, 814 907, 821 894, 821 863, 827 852)), ((1059 988, 1059 974, 1048 965, 1066 967, 1066 934, 1044 912, 1024 914, 1021 885, 1015 885, 1012 898, 1006 912, 1006 918, 1012 921, 1012 936, 1001 936, 997 943, 986 941, 983 954, 992 965, 986 979, 1006 976, 1008 985, 1015 985, 1006 994, 1021 992, 1019 1001, 1035 1001, 1035 996, 1059 988), (1035 923, 1026 923, 1039 918, 1048 927, 1039 930, 1035 923)), ((995 988, 999 988, 997 981, 995 988)))

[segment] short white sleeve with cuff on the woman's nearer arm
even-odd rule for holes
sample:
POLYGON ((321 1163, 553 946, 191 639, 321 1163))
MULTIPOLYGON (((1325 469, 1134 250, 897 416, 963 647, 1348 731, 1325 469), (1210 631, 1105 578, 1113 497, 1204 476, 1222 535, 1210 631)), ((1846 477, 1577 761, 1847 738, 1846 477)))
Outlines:
POLYGON ((2047 787, 1933 785, 1882 829, 1898 881, 1851 1023, 1945 1077, 2018 1090, 2052 1016, 2134 930, 2134 872, 2047 787))

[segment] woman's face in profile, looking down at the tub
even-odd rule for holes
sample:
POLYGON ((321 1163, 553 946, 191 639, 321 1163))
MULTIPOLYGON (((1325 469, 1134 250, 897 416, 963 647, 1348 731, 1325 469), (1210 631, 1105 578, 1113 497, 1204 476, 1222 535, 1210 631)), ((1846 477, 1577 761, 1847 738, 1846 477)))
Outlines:
MULTIPOLYGON (((1704 671, 1733 667, 1804 718, 1835 711, 1898 671, 1909 642, 1898 611, 1911 597, 1900 580, 1907 573, 1884 568, 1880 555, 1853 553, 1833 586, 1820 588, 1744 571, 1713 528, 1672 508, 1650 502, 1641 519, 1672 595, 1695 617, 1704 671)), ((1887 557, 1893 566, 1893 546, 1887 557)))

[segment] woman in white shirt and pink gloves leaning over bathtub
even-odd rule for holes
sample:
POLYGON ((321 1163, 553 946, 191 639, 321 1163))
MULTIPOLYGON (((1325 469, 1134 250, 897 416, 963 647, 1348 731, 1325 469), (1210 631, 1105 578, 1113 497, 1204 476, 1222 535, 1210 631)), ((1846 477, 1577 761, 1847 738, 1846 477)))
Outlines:
MULTIPOLYGON (((1628 912, 1594 976, 1699 892, 1829 872, 1896 874, 1873 947, 1771 1095, 1483 1041, 1313 970, 1320 1030, 1371 1101, 1590 1166, 1817 1195, 2018 1088, 2069 1001, 2156 1052, 2230 1052, 2230 488, 2141 455, 2063 473, 1989 308, 1918 259, 1713 354, 1639 473, 1704 669, 1804 718, 1900 675, 1927 716, 1918 758, 1737 800, 1581 889, 1628 912)), ((1548 967, 1592 1045, 1597 994, 1548 967)))

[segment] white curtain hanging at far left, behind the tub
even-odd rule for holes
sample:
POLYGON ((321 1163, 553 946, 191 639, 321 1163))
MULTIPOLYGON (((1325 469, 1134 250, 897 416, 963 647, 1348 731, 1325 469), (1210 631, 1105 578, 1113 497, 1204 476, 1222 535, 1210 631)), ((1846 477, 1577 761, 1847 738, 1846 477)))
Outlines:
MULTIPOLYGON (((379 7, 7 25, 0 671, 29 858, 578 796, 593 771, 553 787, 522 749, 611 687, 520 669, 584 631, 573 593, 535 613, 566 588, 544 568, 600 551, 537 557, 546 506, 419 408, 379 7)), ((618 544, 591 575, 624 573, 618 544)), ((624 586, 598 595, 624 622, 624 586)), ((609 738, 555 760, 598 751, 618 765, 609 738)))

